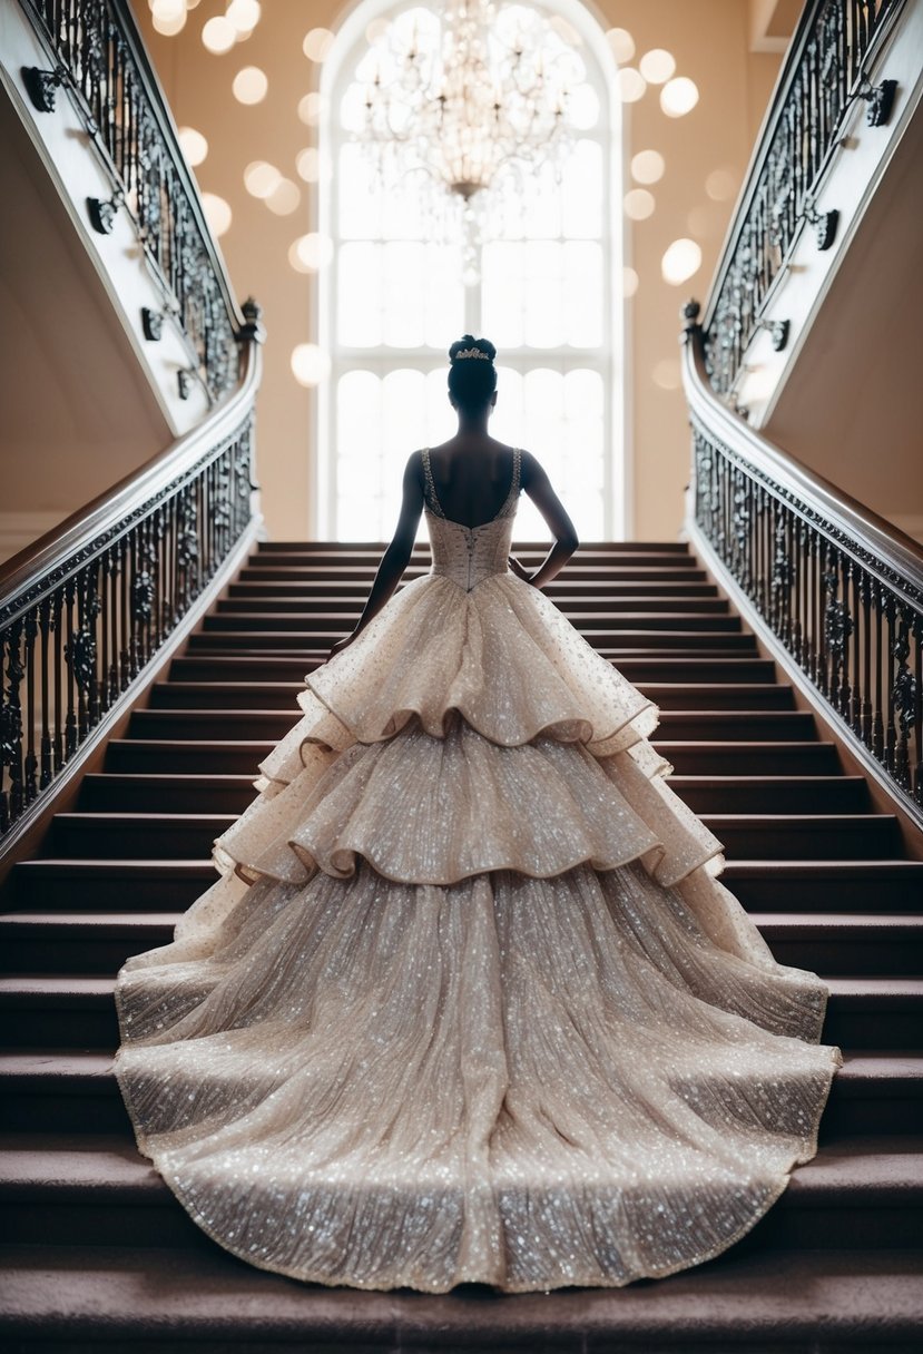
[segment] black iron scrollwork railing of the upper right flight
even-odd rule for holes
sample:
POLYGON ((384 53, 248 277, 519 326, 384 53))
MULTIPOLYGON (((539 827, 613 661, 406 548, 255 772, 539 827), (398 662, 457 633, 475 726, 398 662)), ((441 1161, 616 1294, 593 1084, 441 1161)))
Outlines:
POLYGON ((770 329, 777 349, 788 341, 788 324, 770 325, 763 311, 805 223, 815 227, 819 249, 834 242, 838 214, 816 211, 817 183, 857 99, 866 102, 872 126, 888 122, 893 81, 873 87, 866 69, 903 3, 809 0, 804 8, 702 325, 708 376, 724 398, 732 398, 758 329, 770 329))

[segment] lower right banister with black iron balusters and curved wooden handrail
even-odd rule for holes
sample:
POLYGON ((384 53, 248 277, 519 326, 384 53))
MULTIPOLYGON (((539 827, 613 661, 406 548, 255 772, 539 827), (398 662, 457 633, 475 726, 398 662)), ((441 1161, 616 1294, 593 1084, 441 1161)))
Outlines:
POLYGON ((715 401, 696 314, 693 305, 690 531, 919 816, 923 550, 715 401))

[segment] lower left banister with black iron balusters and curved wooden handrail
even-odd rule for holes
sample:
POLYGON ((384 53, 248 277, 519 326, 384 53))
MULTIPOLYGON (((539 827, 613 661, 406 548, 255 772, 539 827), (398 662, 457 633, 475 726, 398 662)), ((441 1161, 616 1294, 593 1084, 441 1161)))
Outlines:
POLYGON ((0 839, 252 527, 249 389, 0 570, 0 839))

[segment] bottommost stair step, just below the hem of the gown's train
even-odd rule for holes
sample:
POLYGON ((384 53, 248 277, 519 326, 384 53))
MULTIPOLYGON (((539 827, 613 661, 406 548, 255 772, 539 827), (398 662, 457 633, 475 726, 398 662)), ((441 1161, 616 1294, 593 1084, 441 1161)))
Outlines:
POLYGON ((602 1354, 631 1340, 633 1354, 663 1336, 671 1349, 689 1349, 693 1339, 697 1349, 731 1340, 728 1349, 743 1354, 755 1339, 778 1340, 781 1349, 793 1332, 831 1349, 842 1334, 857 1350, 857 1332, 865 1349, 896 1334, 909 1349, 923 1307, 923 1251, 901 1250, 731 1252, 656 1284, 490 1301, 464 1290, 432 1296, 294 1284, 218 1246, 145 1248, 142 1258, 133 1247, 3 1246, 0 1270, 11 1280, 5 1322, 32 1339, 47 1330, 70 1340, 131 1339, 134 1347, 139 1332, 153 1330, 189 1347, 207 1340, 210 1351, 245 1339, 254 1351, 277 1342, 280 1354, 315 1345, 422 1354, 434 1340, 456 1354, 510 1349, 506 1342, 514 1340, 524 1350, 602 1354))

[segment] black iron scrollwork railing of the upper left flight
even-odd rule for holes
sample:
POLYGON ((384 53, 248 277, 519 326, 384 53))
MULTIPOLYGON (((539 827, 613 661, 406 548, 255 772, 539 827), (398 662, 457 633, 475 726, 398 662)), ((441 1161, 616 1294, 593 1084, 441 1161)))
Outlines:
POLYGON ((46 69, 22 72, 28 96, 41 112, 58 88, 72 99, 112 185, 110 199, 87 202, 89 221, 107 234, 118 211, 129 214, 164 298, 161 311, 145 313, 145 334, 156 340, 173 321, 189 352, 180 395, 195 378, 215 402, 238 380, 234 301, 129 5, 20 3, 49 54, 46 69))

